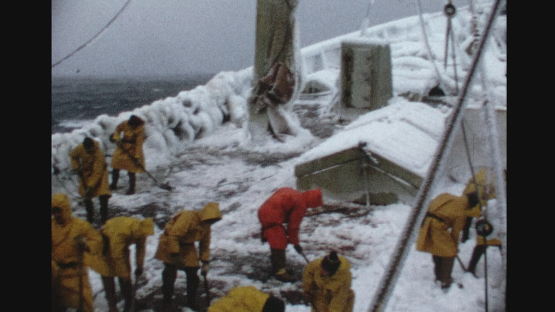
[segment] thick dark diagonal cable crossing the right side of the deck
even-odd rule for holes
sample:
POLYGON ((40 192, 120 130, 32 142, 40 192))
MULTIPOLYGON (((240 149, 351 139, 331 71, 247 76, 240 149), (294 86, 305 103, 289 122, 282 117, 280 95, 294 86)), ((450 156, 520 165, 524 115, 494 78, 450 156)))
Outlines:
POLYGON ((427 174, 426 179, 423 181, 422 187, 418 192, 415 208, 412 210, 411 215, 407 220, 407 224, 405 225, 405 229, 403 229, 403 233, 401 234, 396 248, 391 255, 392 260, 390 261, 384 274, 382 275, 379 288, 374 294, 374 297, 372 298, 371 304, 368 308, 369 312, 379 312, 385 310, 387 306, 387 301, 389 300, 393 289, 392 286, 395 285, 395 282, 400 274, 400 268, 403 267, 403 264, 408 255, 407 246, 412 245, 413 241, 416 239, 416 233, 414 230, 415 225, 420 224, 420 222, 422 221, 426 213, 426 210, 422 208, 425 207, 425 204, 427 202, 429 202, 428 195, 431 193, 430 191, 433 189, 432 187, 435 186, 435 177, 436 175, 438 175, 438 173, 442 172, 445 165, 446 158, 443 157, 443 155, 445 155, 447 150, 451 148, 453 139, 455 138, 457 127, 461 123, 463 112, 466 108, 465 98, 468 90, 470 89, 470 84, 473 80, 478 63, 480 62, 486 39, 488 38, 488 34, 490 33, 493 22, 495 21, 500 2, 501 0, 496 0, 492 6, 492 11, 490 13, 490 16, 488 17, 486 28, 484 29, 483 36, 481 37, 480 43, 478 44, 478 50, 472 59, 472 64, 470 70, 468 71, 465 83, 463 84, 462 92, 460 97, 458 98, 457 105, 453 107, 453 112, 446 125, 446 132, 442 137, 441 144, 437 149, 435 158, 430 165, 430 169, 428 171, 429 173, 427 174))

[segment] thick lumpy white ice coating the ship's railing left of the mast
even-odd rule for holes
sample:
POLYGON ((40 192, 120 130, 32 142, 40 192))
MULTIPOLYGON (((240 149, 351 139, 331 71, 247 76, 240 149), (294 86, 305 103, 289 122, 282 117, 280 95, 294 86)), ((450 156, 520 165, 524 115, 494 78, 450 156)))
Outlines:
POLYGON ((183 91, 175 97, 123 112, 118 117, 100 115, 92 124, 71 133, 52 135, 52 173, 70 169, 69 152, 91 137, 100 143, 106 154, 112 154, 115 144, 109 136, 115 127, 134 114, 145 120, 143 145, 147 170, 164 165, 179 154, 186 143, 213 132, 224 120, 243 127, 247 120, 246 100, 253 79, 252 68, 239 72, 221 72, 206 85, 183 91))

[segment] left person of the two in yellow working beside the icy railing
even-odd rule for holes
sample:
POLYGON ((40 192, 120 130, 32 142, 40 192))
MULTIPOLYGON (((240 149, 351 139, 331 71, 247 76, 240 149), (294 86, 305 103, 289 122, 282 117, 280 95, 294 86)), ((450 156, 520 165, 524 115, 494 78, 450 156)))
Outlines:
POLYGON ((108 199, 112 196, 108 187, 108 165, 98 142, 87 137, 70 153, 71 166, 79 175, 79 194, 84 198, 87 221, 93 223, 92 198, 100 202, 100 221, 108 219, 108 199))

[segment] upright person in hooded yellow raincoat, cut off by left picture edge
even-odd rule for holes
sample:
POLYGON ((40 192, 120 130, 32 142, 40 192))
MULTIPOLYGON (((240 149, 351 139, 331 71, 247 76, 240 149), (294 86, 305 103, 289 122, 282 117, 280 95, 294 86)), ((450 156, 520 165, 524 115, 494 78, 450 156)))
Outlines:
POLYGON ((52 261, 58 268, 60 305, 79 308, 82 303, 84 312, 93 312, 87 266, 90 255, 100 250, 102 238, 90 223, 72 217, 65 194, 52 195, 52 216, 52 261))

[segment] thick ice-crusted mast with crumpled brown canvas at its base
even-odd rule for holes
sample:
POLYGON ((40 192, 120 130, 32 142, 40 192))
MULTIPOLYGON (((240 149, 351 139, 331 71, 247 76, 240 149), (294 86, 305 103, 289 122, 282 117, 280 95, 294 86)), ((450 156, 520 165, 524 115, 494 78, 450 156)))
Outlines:
POLYGON ((249 131, 253 139, 268 129, 276 138, 296 135, 290 103, 302 80, 295 9, 299 0, 258 0, 253 93, 249 99, 249 131))

